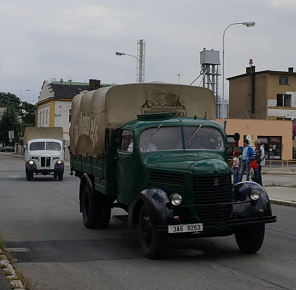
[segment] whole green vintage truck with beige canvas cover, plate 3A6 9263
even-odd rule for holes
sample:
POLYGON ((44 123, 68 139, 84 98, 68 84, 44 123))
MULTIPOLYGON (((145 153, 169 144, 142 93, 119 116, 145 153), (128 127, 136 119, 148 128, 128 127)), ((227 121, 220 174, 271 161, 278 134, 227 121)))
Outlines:
POLYGON ((150 259, 161 257, 166 237, 235 234, 241 251, 258 251, 276 216, 259 184, 233 186, 215 114, 209 89, 181 84, 123 84, 75 96, 70 174, 80 178, 85 227, 105 228, 111 209, 123 208, 150 259))

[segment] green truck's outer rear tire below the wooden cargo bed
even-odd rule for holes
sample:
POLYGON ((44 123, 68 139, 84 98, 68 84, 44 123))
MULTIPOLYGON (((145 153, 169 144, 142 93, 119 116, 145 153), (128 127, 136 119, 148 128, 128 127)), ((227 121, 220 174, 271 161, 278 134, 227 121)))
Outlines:
POLYGON ((82 192, 82 217, 85 227, 87 229, 94 229, 98 222, 98 213, 97 203, 94 200, 93 196, 90 196, 90 189, 85 184, 82 192))

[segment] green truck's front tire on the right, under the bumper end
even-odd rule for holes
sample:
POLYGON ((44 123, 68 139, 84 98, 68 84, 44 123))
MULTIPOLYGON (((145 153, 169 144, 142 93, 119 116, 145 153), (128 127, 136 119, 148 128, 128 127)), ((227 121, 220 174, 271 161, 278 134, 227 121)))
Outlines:
POLYGON ((242 227, 235 232, 235 240, 244 253, 256 253, 264 240, 265 224, 242 227))

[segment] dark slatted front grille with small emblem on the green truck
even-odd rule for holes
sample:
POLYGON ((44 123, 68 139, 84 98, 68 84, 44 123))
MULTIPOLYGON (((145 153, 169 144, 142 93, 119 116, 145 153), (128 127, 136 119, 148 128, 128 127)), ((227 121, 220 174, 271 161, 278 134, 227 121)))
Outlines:
POLYGON ((231 215, 231 205, 215 205, 216 203, 230 203, 230 177, 195 177, 195 204, 197 215, 201 221, 226 220, 231 215), (206 206, 211 205, 211 206, 206 206))

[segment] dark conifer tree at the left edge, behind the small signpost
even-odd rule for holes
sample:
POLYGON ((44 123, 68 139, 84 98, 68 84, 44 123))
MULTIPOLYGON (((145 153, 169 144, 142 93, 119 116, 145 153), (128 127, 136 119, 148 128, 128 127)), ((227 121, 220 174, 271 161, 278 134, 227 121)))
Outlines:
POLYGON ((20 122, 16 110, 12 106, 8 106, 0 120, 0 143, 8 144, 8 131, 14 131, 14 139, 11 144, 15 144, 19 139, 20 122))

